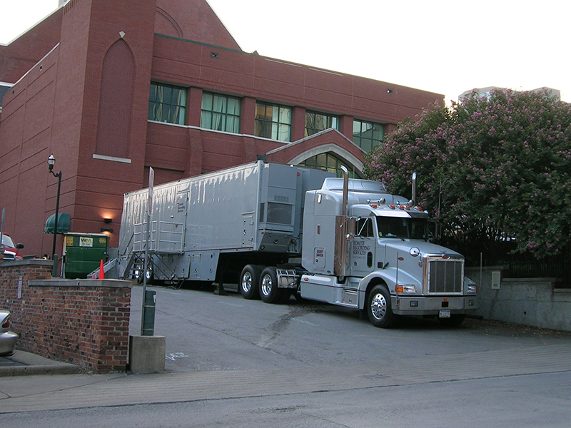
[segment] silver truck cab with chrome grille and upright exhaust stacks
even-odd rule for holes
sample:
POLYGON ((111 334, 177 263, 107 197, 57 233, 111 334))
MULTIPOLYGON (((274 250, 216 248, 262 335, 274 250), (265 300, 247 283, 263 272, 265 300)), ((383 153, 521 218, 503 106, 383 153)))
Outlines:
POLYGON ((395 315, 459 324, 476 309, 463 256, 430 243, 428 213, 383 183, 348 180, 343 195, 343 179, 328 178, 307 193, 302 265, 302 297, 358 308, 378 327, 395 315))

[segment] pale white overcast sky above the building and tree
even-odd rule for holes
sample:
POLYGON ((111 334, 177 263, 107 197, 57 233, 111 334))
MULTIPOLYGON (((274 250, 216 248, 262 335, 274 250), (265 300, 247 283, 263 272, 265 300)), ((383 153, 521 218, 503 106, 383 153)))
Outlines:
MULTIPOLYGON (((446 101, 473 88, 547 86, 571 102, 571 1, 208 3, 246 52, 441 93, 446 101)), ((58 4, 0 0, 0 44, 58 4)))

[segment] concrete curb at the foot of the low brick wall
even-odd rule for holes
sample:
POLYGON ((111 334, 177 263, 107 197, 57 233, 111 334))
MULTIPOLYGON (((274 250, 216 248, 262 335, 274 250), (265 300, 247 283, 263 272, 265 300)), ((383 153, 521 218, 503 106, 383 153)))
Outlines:
POLYGON ((29 374, 77 374, 81 369, 68 362, 52 361, 24 351, 15 351, 11 357, 6 357, 21 365, 0 367, 0 377, 21 376, 29 374))

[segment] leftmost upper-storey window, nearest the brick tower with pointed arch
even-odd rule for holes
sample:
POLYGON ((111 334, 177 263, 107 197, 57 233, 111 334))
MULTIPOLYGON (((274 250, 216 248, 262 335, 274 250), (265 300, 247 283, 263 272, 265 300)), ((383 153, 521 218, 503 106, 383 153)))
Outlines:
POLYGON ((186 89, 151 83, 148 98, 148 120, 184 125, 186 89))

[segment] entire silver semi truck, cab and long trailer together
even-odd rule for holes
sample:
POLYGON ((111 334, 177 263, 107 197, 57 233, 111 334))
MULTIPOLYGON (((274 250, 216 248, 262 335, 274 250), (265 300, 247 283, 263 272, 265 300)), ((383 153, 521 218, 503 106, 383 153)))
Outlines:
POLYGON ((118 272, 148 280, 238 280, 246 299, 292 294, 363 311, 376 327, 395 315, 458 325, 476 310, 464 258, 430 243, 428 213, 383 183, 257 161, 126 193, 118 272), (150 230, 147 237, 146 230, 150 230))

